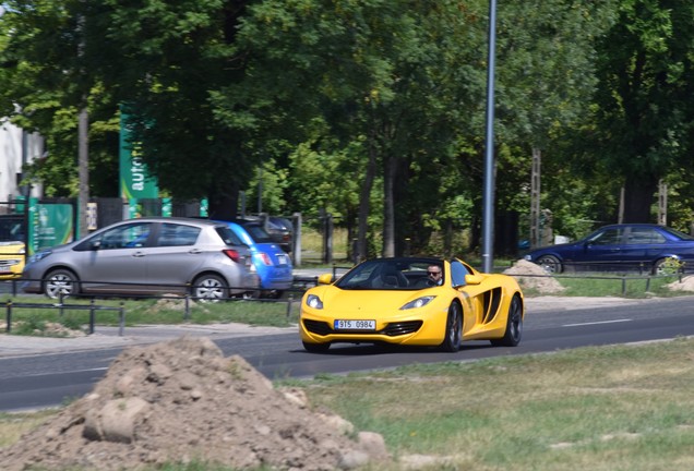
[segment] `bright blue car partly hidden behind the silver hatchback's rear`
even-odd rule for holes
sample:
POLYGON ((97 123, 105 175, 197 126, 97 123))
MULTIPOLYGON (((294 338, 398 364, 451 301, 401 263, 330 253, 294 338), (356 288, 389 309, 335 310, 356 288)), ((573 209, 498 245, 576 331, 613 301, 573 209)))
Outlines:
POLYGON ((279 298, 291 288, 294 274, 289 255, 276 244, 260 222, 227 222, 251 249, 253 265, 261 280, 261 297, 279 298))

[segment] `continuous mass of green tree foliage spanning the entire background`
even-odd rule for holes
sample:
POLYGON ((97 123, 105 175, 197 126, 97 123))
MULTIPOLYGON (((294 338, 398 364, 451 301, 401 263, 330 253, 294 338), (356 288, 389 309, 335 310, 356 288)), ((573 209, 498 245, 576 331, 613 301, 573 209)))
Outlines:
MULTIPOLYGON (((499 213, 528 213, 540 149, 542 206, 562 233, 613 220, 622 184, 643 219, 659 179, 691 218, 690 3, 500 2, 499 213)), ((234 217, 244 190, 249 212, 262 196, 264 212, 309 224, 332 214, 360 257, 459 254, 464 230, 479 243, 487 0, 3 4, 0 111, 46 136, 32 171, 50 194, 76 192, 86 102, 95 195, 118 192, 122 108, 159 186, 210 197, 213 217, 234 217)))

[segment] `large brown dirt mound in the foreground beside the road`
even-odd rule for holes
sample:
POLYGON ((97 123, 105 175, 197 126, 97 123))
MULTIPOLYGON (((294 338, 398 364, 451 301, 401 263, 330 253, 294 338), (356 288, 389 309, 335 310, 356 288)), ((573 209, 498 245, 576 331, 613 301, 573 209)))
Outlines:
POLYGON ((224 358, 207 338, 129 348, 91 394, 0 450, 0 462, 3 471, 193 461, 333 470, 387 458, 380 435, 349 439, 346 421, 297 397, 274 389, 242 358, 224 358))

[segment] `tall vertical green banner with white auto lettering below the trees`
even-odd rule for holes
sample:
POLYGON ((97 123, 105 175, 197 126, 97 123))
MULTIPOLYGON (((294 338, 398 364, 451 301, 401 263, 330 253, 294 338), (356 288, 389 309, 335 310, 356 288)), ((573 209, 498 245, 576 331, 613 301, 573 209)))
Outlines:
POLYGON ((131 138, 128 114, 120 113, 120 197, 156 198, 159 189, 155 177, 149 176, 142 161, 142 147, 131 138))

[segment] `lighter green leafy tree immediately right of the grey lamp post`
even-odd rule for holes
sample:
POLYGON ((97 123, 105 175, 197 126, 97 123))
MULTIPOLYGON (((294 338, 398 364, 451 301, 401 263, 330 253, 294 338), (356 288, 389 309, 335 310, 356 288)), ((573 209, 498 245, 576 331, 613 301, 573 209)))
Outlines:
MULTIPOLYGON (((530 195, 523 191, 530 183, 530 155, 538 164, 543 160, 548 169, 555 168, 555 162, 565 166, 558 136, 561 130, 582 122, 588 114, 597 83, 596 40, 610 25, 612 3, 611 0, 503 3, 499 13, 496 113, 499 140, 510 147, 507 158, 499 166, 499 184, 505 186, 505 191, 498 191, 503 207, 522 213, 530 207, 530 195)), ((582 186, 566 172, 543 173, 550 176, 542 179, 546 189, 558 186, 565 191, 567 185, 582 186)), ((542 193, 542 200, 549 202, 543 206, 559 214, 561 206, 554 205, 559 200, 550 195, 549 191, 542 193)))

